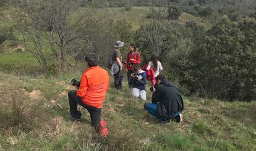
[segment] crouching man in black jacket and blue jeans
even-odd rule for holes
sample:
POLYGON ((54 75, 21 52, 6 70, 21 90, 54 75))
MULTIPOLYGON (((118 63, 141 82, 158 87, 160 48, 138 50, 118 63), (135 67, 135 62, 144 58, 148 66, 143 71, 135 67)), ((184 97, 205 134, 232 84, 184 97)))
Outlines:
POLYGON ((163 123, 170 123, 174 118, 182 121, 183 100, 177 87, 166 80, 164 75, 156 76, 157 88, 153 87, 152 103, 145 103, 144 108, 163 123))

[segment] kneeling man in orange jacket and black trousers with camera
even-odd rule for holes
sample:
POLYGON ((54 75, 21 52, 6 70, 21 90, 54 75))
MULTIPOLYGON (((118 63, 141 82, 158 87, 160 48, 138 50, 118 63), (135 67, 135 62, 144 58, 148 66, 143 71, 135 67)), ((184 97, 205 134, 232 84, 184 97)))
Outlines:
POLYGON ((81 76, 80 86, 77 91, 69 91, 70 115, 75 123, 80 123, 81 112, 77 110, 77 104, 81 105, 90 113, 92 126, 96 130, 106 132, 106 122, 101 121, 101 108, 109 88, 108 72, 98 66, 98 57, 95 54, 85 56, 87 70, 81 76))

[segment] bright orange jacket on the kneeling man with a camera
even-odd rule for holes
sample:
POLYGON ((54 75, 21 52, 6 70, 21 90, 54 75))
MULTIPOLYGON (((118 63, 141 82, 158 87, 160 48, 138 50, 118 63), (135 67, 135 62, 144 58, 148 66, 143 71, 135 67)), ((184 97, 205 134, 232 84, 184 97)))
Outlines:
POLYGON ((108 72, 98 66, 90 67, 81 76, 77 96, 87 105, 102 108, 108 88, 108 72))

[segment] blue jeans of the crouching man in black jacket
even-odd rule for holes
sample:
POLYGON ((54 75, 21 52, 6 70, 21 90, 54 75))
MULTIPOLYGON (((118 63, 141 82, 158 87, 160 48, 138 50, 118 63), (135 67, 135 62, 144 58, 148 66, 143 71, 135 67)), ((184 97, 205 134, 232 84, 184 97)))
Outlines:
MULTIPOLYGON (((145 108, 145 110, 148 111, 148 113, 155 116, 155 118, 157 118, 157 119, 163 120, 158 116, 157 107, 158 107, 158 104, 152 104, 152 103, 145 103, 144 104, 144 108, 145 108)), ((180 113, 181 112, 173 113, 173 115, 171 115, 171 118, 176 118, 180 113)), ((169 118, 169 119, 171 119, 171 118, 169 118)), ((165 119, 165 120, 169 120, 169 119, 165 119)))

